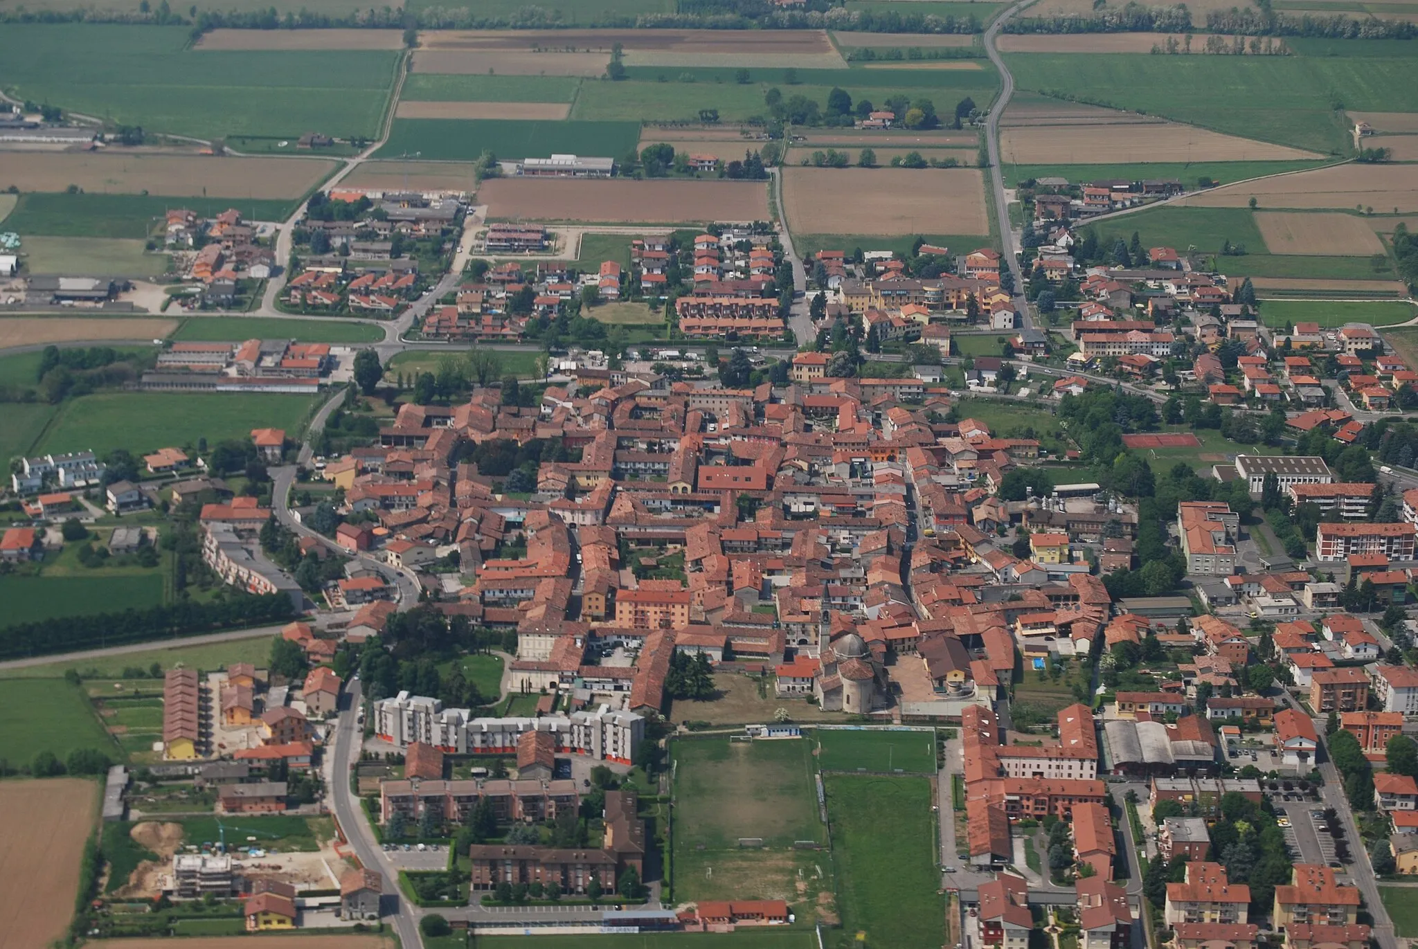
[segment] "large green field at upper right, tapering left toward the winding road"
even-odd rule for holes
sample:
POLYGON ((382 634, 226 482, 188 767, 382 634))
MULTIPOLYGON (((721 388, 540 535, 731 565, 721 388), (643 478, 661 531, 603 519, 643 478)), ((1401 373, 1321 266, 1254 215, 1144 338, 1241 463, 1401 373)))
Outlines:
POLYGON ((1418 85, 1404 78, 1412 67, 1411 51, 1404 50, 1405 55, 1394 58, 1027 52, 1007 60, 1024 91, 1058 92, 1244 138, 1347 155, 1349 126, 1337 106, 1418 111, 1418 85))

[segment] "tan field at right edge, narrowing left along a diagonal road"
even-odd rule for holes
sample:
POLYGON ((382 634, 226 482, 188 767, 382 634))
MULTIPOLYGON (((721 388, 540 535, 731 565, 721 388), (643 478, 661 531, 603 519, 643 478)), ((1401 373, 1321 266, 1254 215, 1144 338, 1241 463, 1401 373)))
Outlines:
POLYGON ((1418 211, 1418 165, 1332 165, 1259 182, 1224 184, 1184 197, 1191 207, 1245 207, 1255 197, 1266 209, 1373 207, 1383 214, 1418 211))

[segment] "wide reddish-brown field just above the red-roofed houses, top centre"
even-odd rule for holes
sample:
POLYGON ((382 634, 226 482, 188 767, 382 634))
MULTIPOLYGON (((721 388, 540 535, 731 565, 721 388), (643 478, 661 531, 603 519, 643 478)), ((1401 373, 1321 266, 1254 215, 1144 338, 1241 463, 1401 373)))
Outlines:
POLYGON ((763 182, 491 179, 478 200, 489 220, 691 224, 769 217, 763 182))

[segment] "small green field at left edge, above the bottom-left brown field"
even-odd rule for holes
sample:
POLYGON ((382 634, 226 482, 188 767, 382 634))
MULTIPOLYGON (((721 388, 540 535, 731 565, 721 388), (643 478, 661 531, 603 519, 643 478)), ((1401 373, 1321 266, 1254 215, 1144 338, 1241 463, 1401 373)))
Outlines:
POLYGON ((94 748, 118 757, 113 740, 99 725, 77 685, 62 679, 26 679, 0 688, 0 759, 28 765, 40 752, 62 762, 69 752, 94 748))

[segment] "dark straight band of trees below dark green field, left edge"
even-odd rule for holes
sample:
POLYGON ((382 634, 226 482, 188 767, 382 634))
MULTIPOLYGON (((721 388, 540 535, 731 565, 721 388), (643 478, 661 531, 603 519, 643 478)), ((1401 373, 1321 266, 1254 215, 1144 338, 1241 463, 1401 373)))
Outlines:
POLYGON ((174 636, 271 626, 285 623, 294 614, 295 609, 286 596, 252 596, 234 592, 210 603, 179 600, 173 604, 152 606, 145 610, 14 623, 0 627, 0 658, 72 653, 174 636))

